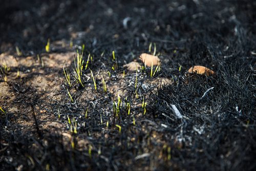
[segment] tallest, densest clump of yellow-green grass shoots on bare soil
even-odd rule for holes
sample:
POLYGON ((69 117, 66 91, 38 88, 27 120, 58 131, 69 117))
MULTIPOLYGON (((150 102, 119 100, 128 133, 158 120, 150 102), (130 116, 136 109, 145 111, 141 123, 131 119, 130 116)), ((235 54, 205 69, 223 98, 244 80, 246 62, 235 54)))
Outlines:
POLYGON ((82 45, 81 53, 79 53, 77 50, 77 58, 74 58, 74 66, 73 66, 75 80, 82 87, 84 87, 82 83, 82 69, 83 69, 83 62, 84 62, 84 60, 82 59, 83 50, 84 50, 84 45, 82 45))

